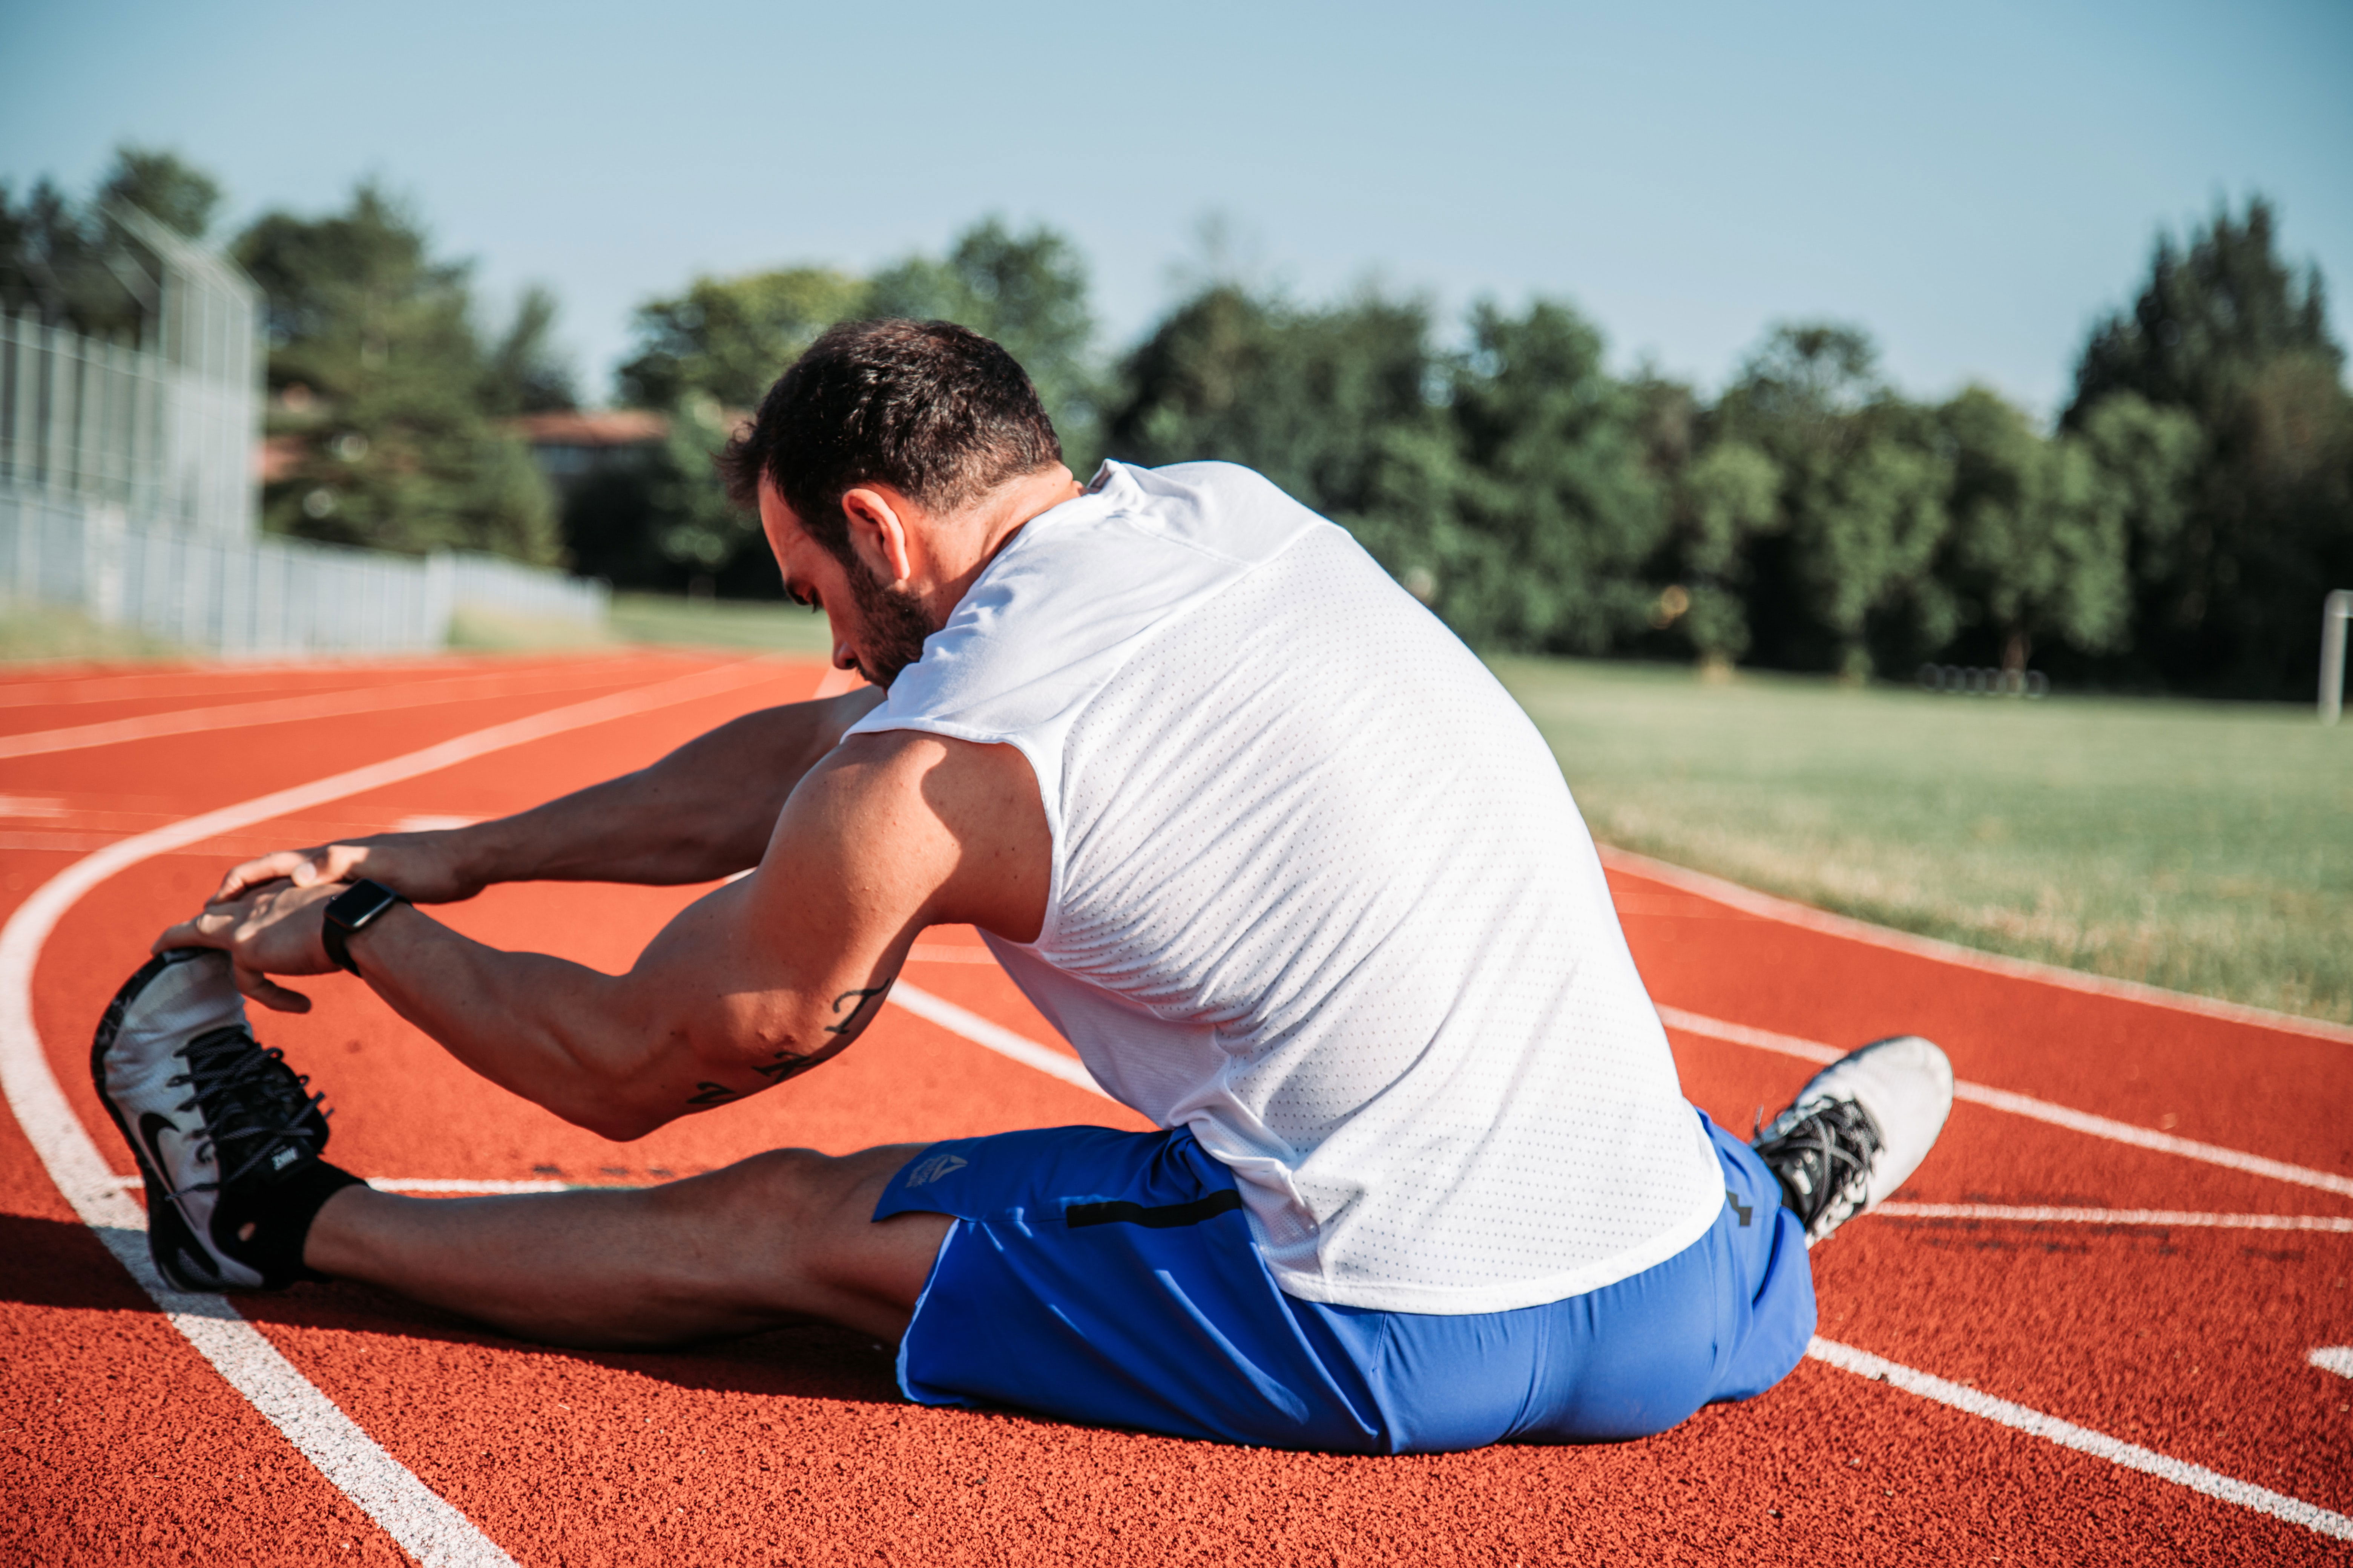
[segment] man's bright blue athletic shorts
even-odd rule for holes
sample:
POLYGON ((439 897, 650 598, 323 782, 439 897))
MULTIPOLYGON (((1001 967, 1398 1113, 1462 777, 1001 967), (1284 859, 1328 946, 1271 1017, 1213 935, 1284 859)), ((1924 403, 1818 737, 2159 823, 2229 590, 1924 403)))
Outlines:
POLYGON ((1181 1128, 934 1143, 875 1206, 875 1220, 958 1220, 899 1345, 899 1387, 1339 1453, 1666 1432, 1762 1394, 1814 1333, 1805 1229, 1748 1145, 1701 1124, 1725 1168, 1706 1237, 1614 1286, 1468 1316, 1285 1295, 1233 1175, 1181 1128))

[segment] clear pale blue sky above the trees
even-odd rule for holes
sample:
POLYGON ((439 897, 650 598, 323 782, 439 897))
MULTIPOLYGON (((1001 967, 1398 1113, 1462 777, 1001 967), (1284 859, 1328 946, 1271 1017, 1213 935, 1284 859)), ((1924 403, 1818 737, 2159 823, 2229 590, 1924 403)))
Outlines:
POLYGON ((2247 193, 2348 336, 2353 5, 320 7, 0 0, 0 179, 179 148, 231 223, 407 193, 492 299, 555 287, 586 390, 699 270, 1071 233, 1106 341, 1202 259, 1301 296, 1577 301, 1720 386, 1868 327, 1915 395, 2049 414, 2151 240, 2247 193))

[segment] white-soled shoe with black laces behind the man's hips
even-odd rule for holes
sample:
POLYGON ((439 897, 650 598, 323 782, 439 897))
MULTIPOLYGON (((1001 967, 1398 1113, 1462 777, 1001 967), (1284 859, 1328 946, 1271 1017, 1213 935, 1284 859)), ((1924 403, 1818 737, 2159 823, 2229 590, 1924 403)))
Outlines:
POLYGON ((1953 1110, 1953 1063, 1901 1034, 1849 1051, 1798 1091, 1755 1140, 1814 1246, 1920 1168, 1953 1110))

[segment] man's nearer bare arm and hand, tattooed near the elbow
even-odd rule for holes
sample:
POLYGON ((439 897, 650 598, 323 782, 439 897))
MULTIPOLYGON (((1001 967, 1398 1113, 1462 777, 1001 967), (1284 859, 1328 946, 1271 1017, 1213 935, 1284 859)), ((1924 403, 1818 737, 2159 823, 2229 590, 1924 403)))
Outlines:
MULTIPOLYGON (((972 922, 1033 940, 1052 839, 1028 762, 918 733, 835 748, 793 792, 753 877, 699 898, 626 976, 499 952, 419 910, 353 938, 360 976, 482 1077, 607 1138, 781 1084, 847 1046, 915 933, 972 922)), ((325 973, 334 886, 285 882, 172 926, 226 950, 247 994, 308 1006, 271 973, 325 973)))

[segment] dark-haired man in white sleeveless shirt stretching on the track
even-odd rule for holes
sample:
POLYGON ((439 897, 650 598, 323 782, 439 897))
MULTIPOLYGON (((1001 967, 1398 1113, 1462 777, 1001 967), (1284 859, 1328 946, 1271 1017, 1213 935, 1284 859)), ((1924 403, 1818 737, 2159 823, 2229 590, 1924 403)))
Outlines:
POLYGON ((1708 1126, 1544 743, 1348 534, 1224 463, 1080 487, 1021 369, 941 322, 828 331, 722 468, 880 696, 233 870, 94 1053, 167 1276, 365 1279, 572 1345, 821 1316, 899 1340, 922 1401, 1374 1453, 1638 1436, 1788 1373, 1805 1244, 1927 1154, 1944 1056, 1868 1046, 1758 1150, 1708 1126), (746 867, 619 978, 416 907, 746 867), (344 964, 635 1138, 847 1048, 932 924, 1165 1131, 416 1201, 320 1159, 238 999, 299 1011, 271 976, 344 964))

